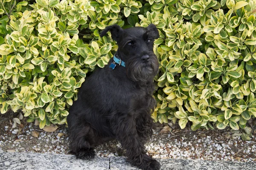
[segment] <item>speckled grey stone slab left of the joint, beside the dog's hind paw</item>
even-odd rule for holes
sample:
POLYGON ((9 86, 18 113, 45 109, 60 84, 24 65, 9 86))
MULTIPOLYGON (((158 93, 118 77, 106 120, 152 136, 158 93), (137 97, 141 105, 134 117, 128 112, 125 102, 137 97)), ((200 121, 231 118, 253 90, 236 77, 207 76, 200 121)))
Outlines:
POLYGON ((109 170, 109 159, 76 159, 73 155, 0 152, 0 170, 109 170))

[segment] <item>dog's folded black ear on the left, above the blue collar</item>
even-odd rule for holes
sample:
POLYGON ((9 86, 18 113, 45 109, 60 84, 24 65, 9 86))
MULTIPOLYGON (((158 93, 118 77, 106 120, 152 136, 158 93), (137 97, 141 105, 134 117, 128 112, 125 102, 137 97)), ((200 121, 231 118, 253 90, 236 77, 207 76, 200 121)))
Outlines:
POLYGON ((101 33, 100 33, 100 37, 103 37, 104 35, 107 34, 107 32, 110 31, 111 32, 111 37, 113 40, 115 40, 116 42, 119 42, 121 35, 123 34, 123 29, 118 26, 118 25, 113 25, 113 26, 107 26, 101 33))

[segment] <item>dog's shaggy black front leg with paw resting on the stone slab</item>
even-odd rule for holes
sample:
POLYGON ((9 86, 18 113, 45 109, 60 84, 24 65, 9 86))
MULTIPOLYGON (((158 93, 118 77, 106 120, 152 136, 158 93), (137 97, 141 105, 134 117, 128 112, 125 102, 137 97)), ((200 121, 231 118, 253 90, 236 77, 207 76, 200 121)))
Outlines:
POLYGON ((143 170, 159 170, 160 164, 146 154, 147 151, 137 133, 134 118, 132 116, 119 117, 116 125, 116 137, 126 150, 127 160, 143 170))

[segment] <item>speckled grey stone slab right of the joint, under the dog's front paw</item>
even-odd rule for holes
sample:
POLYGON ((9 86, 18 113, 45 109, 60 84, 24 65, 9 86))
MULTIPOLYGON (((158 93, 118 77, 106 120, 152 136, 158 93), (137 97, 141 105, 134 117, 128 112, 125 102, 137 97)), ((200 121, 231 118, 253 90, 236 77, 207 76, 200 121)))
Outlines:
MULTIPOLYGON (((161 170, 256 170, 256 163, 239 161, 206 161, 192 159, 157 159, 161 170)), ((111 170, 139 170, 123 157, 111 157, 111 170)))

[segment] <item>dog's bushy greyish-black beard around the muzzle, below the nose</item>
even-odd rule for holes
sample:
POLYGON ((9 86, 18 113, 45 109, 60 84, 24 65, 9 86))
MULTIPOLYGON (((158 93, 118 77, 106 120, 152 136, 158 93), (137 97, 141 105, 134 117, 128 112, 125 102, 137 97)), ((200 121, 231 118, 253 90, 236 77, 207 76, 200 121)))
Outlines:
POLYGON ((127 76, 135 82, 152 81, 158 73, 158 60, 155 55, 150 55, 147 63, 141 61, 140 57, 133 57, 127 61, 127 76))

